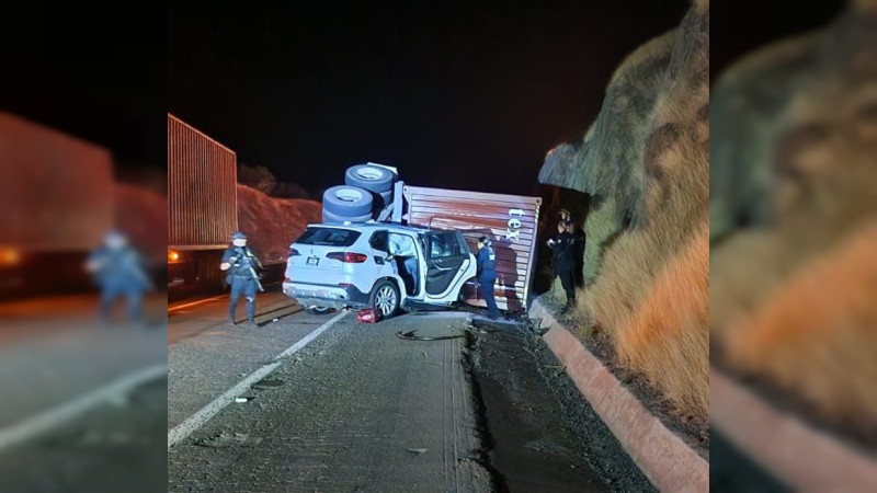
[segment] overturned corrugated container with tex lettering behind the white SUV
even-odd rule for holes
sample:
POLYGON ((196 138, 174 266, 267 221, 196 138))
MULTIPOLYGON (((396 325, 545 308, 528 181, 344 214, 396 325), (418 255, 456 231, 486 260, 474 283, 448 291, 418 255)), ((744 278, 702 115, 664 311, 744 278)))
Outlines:
MULTIPOLYGON (((479 237, 490 238, 497 252, 497 305, 513 312, 526 309, 542 198, 420 186, 406 186, 403 193, 408 223, 460 230, 472 252, 479 237)), ((464 298, 485 306, 474 282, 467 283, 464 298)))

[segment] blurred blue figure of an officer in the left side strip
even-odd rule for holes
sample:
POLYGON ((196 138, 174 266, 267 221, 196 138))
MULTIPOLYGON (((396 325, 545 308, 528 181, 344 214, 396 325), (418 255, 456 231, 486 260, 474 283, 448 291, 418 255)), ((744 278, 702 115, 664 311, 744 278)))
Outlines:
POLYGON ((128 300, 128 318, 143 321, 144 294, 152 285, 146 274, 145 261, 137 250, 128 244, 128 239, 118 231, 110 231, 104 244, 92 252, 86 262, 101 287, 101 320, 110 318, 113 303, 121 296, 128 300))

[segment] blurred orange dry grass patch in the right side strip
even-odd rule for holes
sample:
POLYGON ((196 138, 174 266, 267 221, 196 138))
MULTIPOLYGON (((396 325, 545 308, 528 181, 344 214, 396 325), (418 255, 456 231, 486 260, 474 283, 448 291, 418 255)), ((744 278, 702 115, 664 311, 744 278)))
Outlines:
POLYGON ((724 333, 729 363, 834 422, 877 429, 877 220, 805 264, 724 333))

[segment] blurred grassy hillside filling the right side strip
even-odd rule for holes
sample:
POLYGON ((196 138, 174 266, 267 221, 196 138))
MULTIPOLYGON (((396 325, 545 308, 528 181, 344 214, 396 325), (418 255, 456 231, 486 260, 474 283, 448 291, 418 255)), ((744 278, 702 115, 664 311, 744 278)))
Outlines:
POLYGON ((877 443, 877 1, 765 47, 714 92, 714 353, 877 443), (720 123, 720 125, 718 125, 720 123))

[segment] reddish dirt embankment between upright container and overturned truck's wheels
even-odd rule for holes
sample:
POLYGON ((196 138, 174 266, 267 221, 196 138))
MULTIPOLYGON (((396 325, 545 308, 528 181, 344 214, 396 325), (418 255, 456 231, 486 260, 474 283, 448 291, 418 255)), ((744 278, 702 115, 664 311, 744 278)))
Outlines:
POLYGON ((319 202, 300 198, 274 198, 238 184, 238 229, 265 264, 286 261, 289 243, 308 223, 321 222, 319 202))

